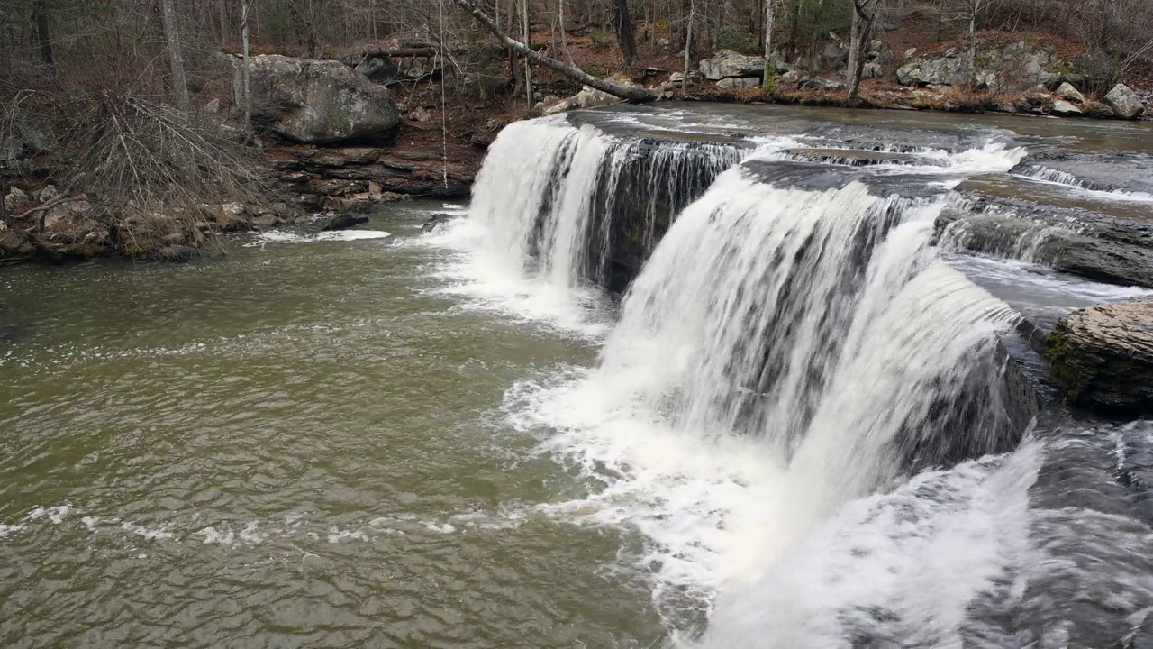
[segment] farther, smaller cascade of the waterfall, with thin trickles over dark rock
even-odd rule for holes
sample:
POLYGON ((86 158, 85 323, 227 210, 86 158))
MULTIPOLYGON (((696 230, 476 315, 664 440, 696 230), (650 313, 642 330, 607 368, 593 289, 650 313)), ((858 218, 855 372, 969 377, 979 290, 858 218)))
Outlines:
POLYGON ((738 162, 739 146, 608 135, 564 117, 500 132, 470 214, 493 263, 557 288, 625 289, 672 217, 738 162))

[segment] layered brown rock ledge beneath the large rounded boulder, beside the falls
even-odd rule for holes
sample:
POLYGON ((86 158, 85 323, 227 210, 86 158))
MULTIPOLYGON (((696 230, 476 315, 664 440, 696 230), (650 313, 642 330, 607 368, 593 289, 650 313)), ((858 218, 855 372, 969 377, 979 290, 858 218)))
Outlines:
POLYGON ((437 151, 380 147, 282 148, 273 167, 307 209, 369 207, 405 196, 467 196, 481 152, 458 151, 447 166, 437 151))

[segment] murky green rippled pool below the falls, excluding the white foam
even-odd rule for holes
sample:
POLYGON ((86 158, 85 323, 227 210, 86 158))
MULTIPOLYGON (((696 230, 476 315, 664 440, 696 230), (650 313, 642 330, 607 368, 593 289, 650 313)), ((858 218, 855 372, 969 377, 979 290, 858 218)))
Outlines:
POLYGON ((595 346, 392 237, 0 275, 0 647, 649 647, 641 543, 505 424, 595 346))

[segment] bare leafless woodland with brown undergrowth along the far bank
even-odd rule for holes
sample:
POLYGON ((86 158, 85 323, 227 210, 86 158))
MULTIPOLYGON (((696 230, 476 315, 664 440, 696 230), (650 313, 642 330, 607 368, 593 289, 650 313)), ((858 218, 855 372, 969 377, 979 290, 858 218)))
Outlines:
POLYGON ((869 103, 862 81, 877 54, 867 50, 884 35, 909 52, 956 45, 970 69, 1002 36, 1055 43, 1092 99, 1123 79, 1147 84, 1150 24, 1150 0, 8 0, 0 182, 51 177, 53 189, 27 204, 3 201, 15 236, 0 246, 55 256, 40 236, 46 215, 78 203, 121 252, 155 251, 165 237, 199 247, 217 230, 205 226, 204 206, 274 202, 251 164, 264 139, 247 74, 243 88, 236 75, 251 55, 357 69, 402 57, 419 69, 386 84, 398 100, 422 104, 408 117, 417 129, 439 122, 447 156, 450 136, 476 143, 480 122, 525 117, 582 84, 634 102, 656 98, 656 76, 677 72, 681 81, 662 96, 771 99, 779 90, 763 73, 763 88, 744 94, 694 89, 691 67, 718 50, 761 55, 782 72, 817 67, 836 43, 847 53, 836 73, 847 88, 816 81, 849 105, 869 103), (142 225, 158 214, 180 225, 142 225))

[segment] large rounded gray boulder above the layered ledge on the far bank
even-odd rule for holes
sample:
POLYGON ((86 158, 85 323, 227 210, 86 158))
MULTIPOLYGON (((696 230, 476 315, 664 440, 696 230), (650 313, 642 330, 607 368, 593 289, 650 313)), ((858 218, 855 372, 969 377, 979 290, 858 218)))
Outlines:
MULTIPOLYGON (((280 55, 249 59, 253 120, 295 142, 333 144, 391 135, 400 112, 389 89, 339 61, 280 55)), ((238 65, 236 102, 243 105, 238 65)))

